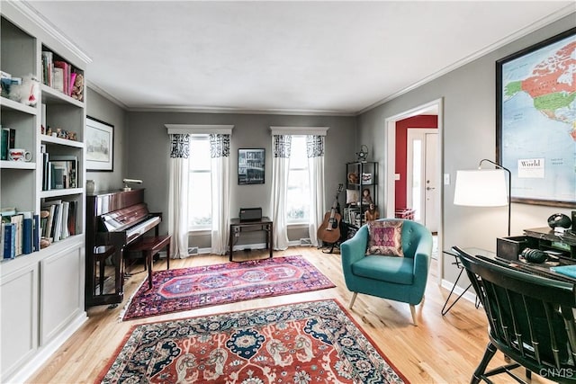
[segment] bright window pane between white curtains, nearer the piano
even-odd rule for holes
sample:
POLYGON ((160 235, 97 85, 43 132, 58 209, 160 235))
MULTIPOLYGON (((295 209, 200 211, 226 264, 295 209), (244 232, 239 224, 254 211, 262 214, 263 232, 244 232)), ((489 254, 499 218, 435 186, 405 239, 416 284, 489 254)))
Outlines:
POLYGON ((211 228, 211 156, 208 135, 190 137, 188 160, 188 228, 190 230, 211 228))

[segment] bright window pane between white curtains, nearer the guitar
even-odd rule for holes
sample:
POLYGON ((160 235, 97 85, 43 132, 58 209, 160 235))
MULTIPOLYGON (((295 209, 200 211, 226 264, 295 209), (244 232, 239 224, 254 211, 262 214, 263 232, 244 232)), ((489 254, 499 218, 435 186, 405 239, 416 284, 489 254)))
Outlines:
POLYGON ((287 223, 308 223, 310 218, 310 181, 306 136, 293 136, 286 196, 287 223))

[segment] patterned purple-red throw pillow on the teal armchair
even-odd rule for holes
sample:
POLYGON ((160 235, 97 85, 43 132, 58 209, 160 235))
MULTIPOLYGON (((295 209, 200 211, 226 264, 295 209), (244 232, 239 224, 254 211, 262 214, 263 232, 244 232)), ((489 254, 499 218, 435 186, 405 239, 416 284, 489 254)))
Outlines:
POLYGON ((404 256, 402 221, 370 221, 368 233, 366 255, 404 256))

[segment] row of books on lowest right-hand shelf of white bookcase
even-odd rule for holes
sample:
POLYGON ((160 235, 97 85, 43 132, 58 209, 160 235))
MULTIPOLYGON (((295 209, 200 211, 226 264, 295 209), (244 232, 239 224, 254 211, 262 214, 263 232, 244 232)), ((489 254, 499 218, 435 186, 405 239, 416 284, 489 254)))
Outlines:
POLYGON ((40 236, 52 243, 76 235, 76 201, 44 201, 40 210, 40 236))

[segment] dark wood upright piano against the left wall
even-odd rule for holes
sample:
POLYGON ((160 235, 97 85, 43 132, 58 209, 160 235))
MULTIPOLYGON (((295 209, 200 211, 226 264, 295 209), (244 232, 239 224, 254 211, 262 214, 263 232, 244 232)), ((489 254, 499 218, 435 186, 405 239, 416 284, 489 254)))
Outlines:
POLYGON ((144 190, 102 192, 86 196, 85 306, 121 303, 124 299, 124 248, 154 229, 161 214, 150 213, 144 190), (103 263, 110 259, 112 268, 103 263))

